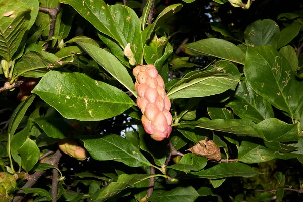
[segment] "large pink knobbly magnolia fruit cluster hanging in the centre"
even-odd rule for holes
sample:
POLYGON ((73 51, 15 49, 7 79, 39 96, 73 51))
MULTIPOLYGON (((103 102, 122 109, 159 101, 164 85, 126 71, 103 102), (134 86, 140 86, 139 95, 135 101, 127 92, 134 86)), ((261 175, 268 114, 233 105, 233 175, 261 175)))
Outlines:
POLYGON ((161 141, 172 132, 171 104, 164 90, 164 82, 154 65, 142 65, 133 69, 138 92, 137 105, 141 109, 142 123, 151 138, 161 141))

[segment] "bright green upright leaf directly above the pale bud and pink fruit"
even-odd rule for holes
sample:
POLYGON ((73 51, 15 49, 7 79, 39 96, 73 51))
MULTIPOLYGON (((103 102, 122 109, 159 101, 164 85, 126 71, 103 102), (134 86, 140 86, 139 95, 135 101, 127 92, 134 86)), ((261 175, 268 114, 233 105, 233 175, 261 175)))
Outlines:
MULTIPOLYGON (((123 34, 127 43, 130 43, 131 50, 137 63, 143 63, 143 42, 141 35, 141 22, 137 14, 129 7, 123 5, 109 6, 114 20, 117 22, 117 29, 123 34)), ((126 45, 126 44, 122 44, 126 45)), ((124 46, 123 46, 124 47, 124 46)))

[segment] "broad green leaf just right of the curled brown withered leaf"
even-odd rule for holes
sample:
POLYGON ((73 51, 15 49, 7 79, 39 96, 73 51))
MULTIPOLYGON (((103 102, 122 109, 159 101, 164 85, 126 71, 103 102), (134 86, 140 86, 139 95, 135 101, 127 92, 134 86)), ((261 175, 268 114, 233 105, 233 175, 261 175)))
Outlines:
POLYGON ((238 160, 247 164, 266 162, 276 159, 278 154, 270 151, 257 139, 242 141, 238 150, 238 160))

